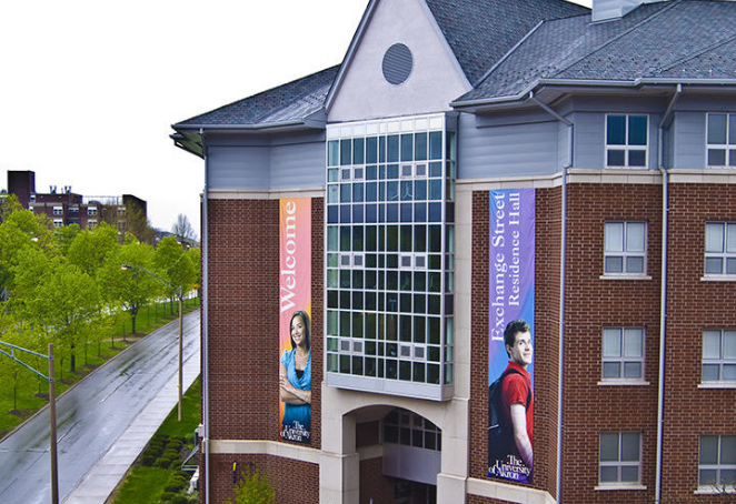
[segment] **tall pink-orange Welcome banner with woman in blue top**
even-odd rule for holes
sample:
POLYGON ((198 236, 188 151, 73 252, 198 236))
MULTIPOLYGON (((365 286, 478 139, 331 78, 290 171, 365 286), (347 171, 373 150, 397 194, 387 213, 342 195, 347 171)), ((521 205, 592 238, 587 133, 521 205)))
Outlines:
POLYGON ((279 433, 311 437, 311 199, 279 204, 279 433))

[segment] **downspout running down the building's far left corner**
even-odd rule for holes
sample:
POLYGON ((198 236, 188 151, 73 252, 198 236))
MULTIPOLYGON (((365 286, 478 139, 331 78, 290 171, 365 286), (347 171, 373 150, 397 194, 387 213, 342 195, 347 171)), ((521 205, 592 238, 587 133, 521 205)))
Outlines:
POLYGON ((205 423, 205 437, 202 451, 205 452, 205 504, 210 503, 210 461, 209 461, 209 225, 207 208, 209 200, 209 155, 205 132, 200 128, 202 139, 202 155, 205 158, 205 190, 202 191, 202 422, 205 423))

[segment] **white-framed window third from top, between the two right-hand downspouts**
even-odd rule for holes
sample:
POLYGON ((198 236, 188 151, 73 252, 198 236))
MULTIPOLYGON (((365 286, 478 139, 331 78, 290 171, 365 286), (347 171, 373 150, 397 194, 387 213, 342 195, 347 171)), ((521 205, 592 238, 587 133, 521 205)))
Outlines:
POLYGON ((644 327, 604 327, 603 380, 644 380, 644 327))

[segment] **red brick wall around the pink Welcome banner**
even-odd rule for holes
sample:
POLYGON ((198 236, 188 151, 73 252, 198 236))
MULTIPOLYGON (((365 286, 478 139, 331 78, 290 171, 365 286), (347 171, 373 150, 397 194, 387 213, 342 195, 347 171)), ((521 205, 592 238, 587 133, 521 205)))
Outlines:
MULTIPOLYGON (((310 329, 312 362, 318 363, 312 365, 311 446, 315 448, 321 445, 322 222, 322 200, 312 199, 310 329)), ((279 201, 210 200, 208 226, 210 437, 280 441, 279 201)), ((308 478, 308 486, 314 486, 314 492, 305 493, 308 497, 304 501, 289 501, 284 493, 282 500, 277 498, 277 502, 318 501, 317 465, 266 455, 218 456, 210 473, 213 488, 219 488, 218 492, 231 488, 231 466, 226 460, 246 461, 248 457, 262 461, 273 481, 290 481, 290 492, 294 492, 295 476, 308 478)), ((282 492, 286 488, 285 483, 282 492)))

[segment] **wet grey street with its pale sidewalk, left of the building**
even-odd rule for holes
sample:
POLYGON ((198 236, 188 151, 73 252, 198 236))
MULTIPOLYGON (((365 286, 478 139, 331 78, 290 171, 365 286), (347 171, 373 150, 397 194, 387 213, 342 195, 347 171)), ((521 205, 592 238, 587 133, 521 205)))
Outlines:
MULTIPOLYGON (((185 315, 185 390, 199 374, 199 312, 185 315)), ((178 334, 175 321, 57 400, 60 502, 102 504, 177 404, 178 334)), ((0 442, 0 503, 51 502, 48 407, 0 442)))

